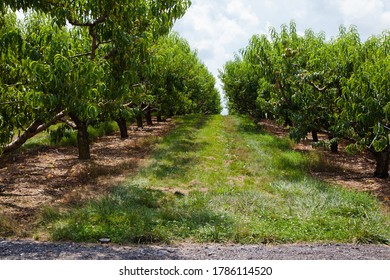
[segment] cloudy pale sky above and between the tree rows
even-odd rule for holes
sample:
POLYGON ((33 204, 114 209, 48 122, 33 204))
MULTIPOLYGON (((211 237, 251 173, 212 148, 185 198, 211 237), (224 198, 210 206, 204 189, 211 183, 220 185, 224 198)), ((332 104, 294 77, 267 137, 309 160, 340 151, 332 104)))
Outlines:
POLYGON ((192 0, 173 30, 217 78, 218 69, 253 35, 268 34, 270 27, 279 30, 291 20, 302 34, 310 28, 328 38, 337 36, 340 25, 356 25, 365 40, 390 29, 390 0, 192 0))

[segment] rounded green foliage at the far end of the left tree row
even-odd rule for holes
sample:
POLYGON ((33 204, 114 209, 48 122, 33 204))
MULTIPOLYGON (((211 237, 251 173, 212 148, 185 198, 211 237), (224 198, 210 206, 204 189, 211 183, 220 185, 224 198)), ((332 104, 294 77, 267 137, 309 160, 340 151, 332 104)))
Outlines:
POLYGON ((220 113, 215 78, 176 33, 157 41, 148 80, 154 106, 162 115, 220 113))

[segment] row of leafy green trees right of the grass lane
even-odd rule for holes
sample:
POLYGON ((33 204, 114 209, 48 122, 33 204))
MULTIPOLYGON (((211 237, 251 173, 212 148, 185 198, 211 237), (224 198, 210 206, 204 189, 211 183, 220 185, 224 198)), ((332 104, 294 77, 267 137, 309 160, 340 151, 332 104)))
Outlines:
POLYGON ((299 35, 294 22, 279 33, 271 28, 226 63, 221 79, 229 106, 284 122, 296 141, 325 132, 335 152, 339 138, 352 140, 348 150, 372 151, 375 176, 388 177, 388 38, 384 32, 362 43, 354 26, 340 27, 329 41, 310 29, 299 35))

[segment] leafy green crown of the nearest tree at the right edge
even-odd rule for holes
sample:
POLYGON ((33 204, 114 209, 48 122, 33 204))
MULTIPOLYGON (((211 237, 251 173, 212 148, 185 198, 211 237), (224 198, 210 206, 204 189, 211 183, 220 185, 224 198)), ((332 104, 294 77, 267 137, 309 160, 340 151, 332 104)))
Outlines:
POLYGON ((363 146, 380 152, 389 146, 390 82, 384 73, 390 69, 389 33, 371 37, 363 46, 367 55, 353 75, 343 80, 345 91, 343 118, 347 129, 363 146))

